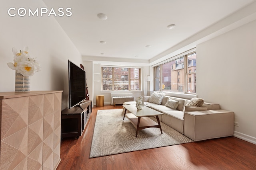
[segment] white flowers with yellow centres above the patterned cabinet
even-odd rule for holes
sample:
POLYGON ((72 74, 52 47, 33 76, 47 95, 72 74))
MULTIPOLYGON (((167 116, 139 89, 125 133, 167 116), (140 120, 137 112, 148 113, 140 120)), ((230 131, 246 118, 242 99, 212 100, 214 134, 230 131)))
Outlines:
POLYGON ((12 48, 12 53, 14 55, 14 63, 7 63, 12 70, 17 70, 18 73, 25 77, 33 76, 34 73, 40 71, 40 64, 34 58, 30 58, 28 47, 24 47, 20 52, 16 48, 12 48))

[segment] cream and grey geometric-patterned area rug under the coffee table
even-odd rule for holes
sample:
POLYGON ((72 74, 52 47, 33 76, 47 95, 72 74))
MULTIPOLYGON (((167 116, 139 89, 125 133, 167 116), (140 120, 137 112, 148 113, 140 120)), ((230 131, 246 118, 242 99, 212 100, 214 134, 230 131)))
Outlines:
MULTIPOLYGON (((135 127, 123 116, 122 109, 98 110, 90 158, 192 142, 162 122, 163 134, 159 128, 147 128, 135 137, 135 127)), ((156 118, 151 119, 157 122, 156 118)))

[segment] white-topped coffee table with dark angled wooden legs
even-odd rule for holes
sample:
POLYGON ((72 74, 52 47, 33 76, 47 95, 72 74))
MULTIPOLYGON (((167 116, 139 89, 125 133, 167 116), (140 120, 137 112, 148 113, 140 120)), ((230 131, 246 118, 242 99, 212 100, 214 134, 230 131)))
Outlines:
POLYGON ((124 117, 127 117, 131 121, 132 125, 134 125, 134 127, 136 128, 135 137, 137 137, 139 130, 149 128, 149 127, 158 127, 160 128, 161 134, 163 133, 160 125, 160 121, 158 118, 158 115, 163 115, 163 113, 160 113, 159 111, 156 111, 146 106, 144 106, 142 110, 138 110, 135 105, 123 105, 123 106, 125 108, 124 117), (130 111, 131 113, 126 113, 127 110, 130 111), (158 123, 148 118, 150 116, 156 116, 158 123))

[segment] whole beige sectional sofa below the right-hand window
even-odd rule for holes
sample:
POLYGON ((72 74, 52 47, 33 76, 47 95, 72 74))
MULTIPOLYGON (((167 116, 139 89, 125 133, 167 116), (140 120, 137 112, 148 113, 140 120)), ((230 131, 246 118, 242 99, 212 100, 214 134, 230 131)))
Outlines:
MULTIPOLYGON (((150 102, 152 96, 143 96, 144 107, 150 107, 163 115, 160 121, 194 141, 232 136, 234 133, 234 113, 220 109, 219 104, 203 102, 202 106, 186 106, 190 100, 163 96, 162 100, 150 102), (176 106, 169 105, 176 102, 176 106)), ((152 101, 152 100, 151 100, 152 101)), ((124 102, 135 104, 135 102, 124 102)))

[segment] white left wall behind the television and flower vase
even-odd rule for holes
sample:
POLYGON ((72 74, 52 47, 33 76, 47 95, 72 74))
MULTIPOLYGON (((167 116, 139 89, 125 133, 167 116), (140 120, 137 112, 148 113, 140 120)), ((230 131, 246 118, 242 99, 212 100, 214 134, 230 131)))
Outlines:
POLYGON ((29 47, 30 57, 41 65, 31 77, 31 90, 63 90, 62 109, 68 106, 68 59, 79 65, 82 57, 54 17, 15 16, 10 7, 36 9, 46 7, 42 0, 4 0, 0 6, 0 92, 14 91, 15 71, 6 63, 13 62, 12 47, 29 47))

